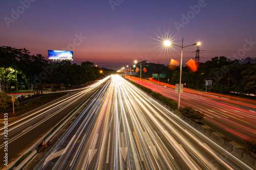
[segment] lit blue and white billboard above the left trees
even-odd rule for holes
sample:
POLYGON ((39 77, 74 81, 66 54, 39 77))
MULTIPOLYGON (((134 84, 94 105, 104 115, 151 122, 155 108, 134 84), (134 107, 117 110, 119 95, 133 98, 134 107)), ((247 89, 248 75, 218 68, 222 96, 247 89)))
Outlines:
POLYGON ((58 51, 58 50, 48 50, 48 59, 50 60, 72 60, 72 51, 58 51))

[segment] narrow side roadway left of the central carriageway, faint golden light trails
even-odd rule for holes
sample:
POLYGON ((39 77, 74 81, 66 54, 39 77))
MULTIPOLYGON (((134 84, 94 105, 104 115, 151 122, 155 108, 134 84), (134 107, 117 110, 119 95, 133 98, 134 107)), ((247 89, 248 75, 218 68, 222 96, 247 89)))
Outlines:
MULTIPOLYGON (((70 93, 54 102, 32 110, 30 114, 26 116, 10 120, 8 122, 8 150, 5 152, 4 141, 6 141, 6 137, 4 137, 4 127, 2 124, 0 127, 0 156, 3 158, 5 156, 4 154, 7 153, 9 165, 51 128, 58 124, 61 119, 66 117, 81 102, 86 100, 107 79, 109 79, 109 77, 87 86, 78 92, 70 93)), ((4 163, 1 163, 0 168, 3 167, 4 163)))

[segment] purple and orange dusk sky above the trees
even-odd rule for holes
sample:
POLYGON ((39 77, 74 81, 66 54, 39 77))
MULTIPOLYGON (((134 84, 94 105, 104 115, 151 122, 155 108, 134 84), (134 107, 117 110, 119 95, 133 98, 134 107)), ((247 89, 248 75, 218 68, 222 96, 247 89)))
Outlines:
MULTIPOLYGON (((201 41, 200 62, 256 57, 255 7, 254 0, 1 1, 0 45, 46 58, 48 50, 71 50, 74 62, 114 69, 135 59, 179 60, 181 48, 163 48, 167 37, 180 46, 182 37, 184 46, 201 41)), ((195 50, 184 48, 183 64, 195 50)))

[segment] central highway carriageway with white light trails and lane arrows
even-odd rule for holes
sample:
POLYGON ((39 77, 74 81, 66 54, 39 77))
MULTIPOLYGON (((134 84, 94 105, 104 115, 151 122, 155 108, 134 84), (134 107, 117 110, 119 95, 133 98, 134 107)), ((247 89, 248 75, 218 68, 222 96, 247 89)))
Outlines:
POLYGON ((112 76, 34 169, 250 169, 112 76))

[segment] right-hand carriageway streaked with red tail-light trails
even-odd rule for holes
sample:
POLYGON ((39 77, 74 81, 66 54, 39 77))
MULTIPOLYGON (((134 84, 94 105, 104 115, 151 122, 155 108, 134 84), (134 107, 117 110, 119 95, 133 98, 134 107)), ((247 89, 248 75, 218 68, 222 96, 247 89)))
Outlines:
MULTIPOLYGON (((140 83, 139 78, 126 78, 140 83)), ((145 79, 141 79, 141 85, 178 100, 178 93, 175 93, 173 85, 145 79)), ((217 95, 184 88, 181 93, 181 107, 190 106, 205 112, 204 124, 241 145, 244 144, 244 138, 256 138, 256 102, 250 104, 253 101, 246 103, 221 96, 219 98, 217 95)))

